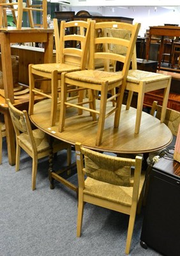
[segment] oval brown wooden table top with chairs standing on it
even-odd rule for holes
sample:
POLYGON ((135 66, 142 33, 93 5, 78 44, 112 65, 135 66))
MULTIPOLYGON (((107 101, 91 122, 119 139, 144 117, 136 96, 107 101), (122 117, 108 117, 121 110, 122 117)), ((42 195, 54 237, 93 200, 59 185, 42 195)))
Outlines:
MULTIPOLYGON (((78 115, 77 109, 68 108, 64 131, 59 132, 59 106, 56 125, 53 127, 49 125, 50 102, 50 99, 46 99, 34 104, 34 113, 30 116, 31 121, 42 131, 71 145, 75 145, 78 141, 84 147, 93 150, 138 154, 160 150, 167 147, 172 141, 170 129, 165 124, 160 123, 160 120, 145 112, 142 113, 140 132, 135 134, 136 109, 126 110, 123 105, 119 128, 114 129, 114 115, 109 116, 105 120, 103 142, 97 147, 95 141, 98 121, 93 121, 89 112, 83 111, 82 115, 78 115)), ((110 108, 111 104, 109 102, 107 108, 110 108)))

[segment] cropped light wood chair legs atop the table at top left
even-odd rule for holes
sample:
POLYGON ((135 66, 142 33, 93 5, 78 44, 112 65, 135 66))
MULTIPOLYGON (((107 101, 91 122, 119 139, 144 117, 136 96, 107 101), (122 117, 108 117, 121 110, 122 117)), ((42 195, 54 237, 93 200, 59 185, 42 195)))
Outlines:
POLYGON ((0 28, 8 27, 7 11, 11 11, 16 28, 22 28, 23 12, 27 12, 29 17, 29 25, 34 28, 33 12, 41 12, 42 26, 47 28, 47 0, 41 0, 41 4, 31 4, 31 0, 27 0, 26 3, 23 0, 13 2, 12 0, 0 0, 0 28), (17 17, 16 17, 17 12, 17 17))

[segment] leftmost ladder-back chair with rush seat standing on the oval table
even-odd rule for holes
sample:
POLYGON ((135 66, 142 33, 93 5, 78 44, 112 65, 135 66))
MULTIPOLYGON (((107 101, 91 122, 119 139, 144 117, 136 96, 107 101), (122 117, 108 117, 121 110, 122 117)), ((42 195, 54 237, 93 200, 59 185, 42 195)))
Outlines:
MULTIPOLYGON (((58 82, 61 83, 62 72, 72 72, 86 68, 89 47, 89 28, 90 20, 76 20, 70 22, 63 20, 61 21, 59 37, 57 19, 54 19, 56 63, 29 65, 29 115, 33 114, 35 93, 43 95, 52 99, 50 126, 55 125, 58 90, 61 90, 61 84, 58 86, 58 82), (40 90, 35 88, 35 83, 43 81, 44 79, 51 81, 50 92, 40 92, 40 90)), ((73 92, 73 89, 68 90, 68 92, 73 92)), ((82 93, 80 93, 80 97, 83 97, 82 93)))

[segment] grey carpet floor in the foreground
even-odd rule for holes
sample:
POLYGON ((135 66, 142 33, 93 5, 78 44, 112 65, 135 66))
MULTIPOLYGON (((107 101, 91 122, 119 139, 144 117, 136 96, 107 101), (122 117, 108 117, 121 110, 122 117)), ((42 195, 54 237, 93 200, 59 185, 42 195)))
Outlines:
MULTIPOLYGON (((74 157, 74 156, 73 156, 74 157)), ((8 164, 6 141, 0 166, 1 256, 123 256, 128 216, 94 205, 85 205, 82 236, 76 237, 75 192, 55 182, 49 188, 48 159, 38 164, 36 190, 31 191, 31 158, 22 152, 20 171, 8 164)), ((55 169, 66 163, 58 154, 55 169)), ((70 177, 77 184, 77 175, 70 177)), ((142 214, 137 216, 130 255, 160 255, 140 244, 142 214)))

